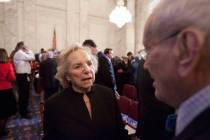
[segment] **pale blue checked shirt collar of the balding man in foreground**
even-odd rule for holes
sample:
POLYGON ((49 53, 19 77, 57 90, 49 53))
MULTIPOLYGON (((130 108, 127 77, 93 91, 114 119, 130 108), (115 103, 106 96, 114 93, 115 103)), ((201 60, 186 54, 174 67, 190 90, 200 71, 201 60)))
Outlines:
POLYGON ((201 89, 180 105, 177 110, 176 136, 209 106, 210 85, 201 89))

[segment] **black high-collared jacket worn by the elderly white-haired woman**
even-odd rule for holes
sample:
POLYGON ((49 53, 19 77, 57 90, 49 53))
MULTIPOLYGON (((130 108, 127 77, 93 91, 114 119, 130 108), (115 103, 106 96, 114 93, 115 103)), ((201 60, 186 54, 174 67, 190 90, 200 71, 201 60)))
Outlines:
POLYGON ((92 119, 83 95, 72 88, 49 98, 44 116, 44 140, 127 140, 115 95, 95 85, 87 93, 92 119))

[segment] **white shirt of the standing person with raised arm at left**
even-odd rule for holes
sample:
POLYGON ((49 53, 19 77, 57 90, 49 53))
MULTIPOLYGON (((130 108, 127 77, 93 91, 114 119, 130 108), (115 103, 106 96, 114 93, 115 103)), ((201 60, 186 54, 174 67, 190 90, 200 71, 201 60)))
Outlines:
POLYGON ((31 73, 31 65, 29 61, 35 59, 34 53, 31 50, 24 52, 22 49, 18 50, 13 58, 15 71, 18 74, 31 73))

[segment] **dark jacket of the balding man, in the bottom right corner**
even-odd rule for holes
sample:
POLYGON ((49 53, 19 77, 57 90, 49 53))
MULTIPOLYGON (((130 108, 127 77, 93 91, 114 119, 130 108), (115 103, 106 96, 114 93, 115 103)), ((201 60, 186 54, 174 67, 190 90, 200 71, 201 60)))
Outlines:
POLYGON ((196 117, 173 140, 210 140, 210 107, 196 117))

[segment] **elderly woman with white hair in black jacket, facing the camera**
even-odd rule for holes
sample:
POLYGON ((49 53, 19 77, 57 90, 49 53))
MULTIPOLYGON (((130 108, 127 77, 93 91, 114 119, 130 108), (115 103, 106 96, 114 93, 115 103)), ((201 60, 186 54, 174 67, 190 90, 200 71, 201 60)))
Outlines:
POLYGON ((44 113, 44 140, 127 140, 115 94, 94 85, 97 61, 77 45, 60 56, 56 78, 64 87, 50 97, 44 113))

